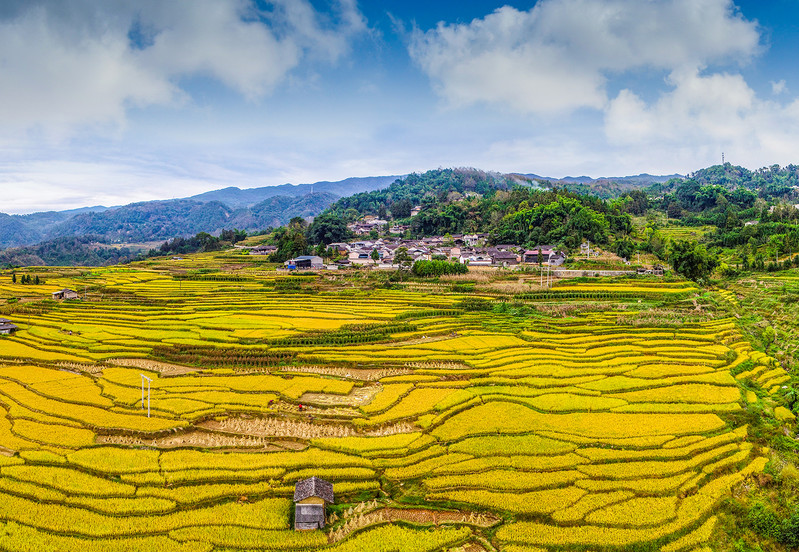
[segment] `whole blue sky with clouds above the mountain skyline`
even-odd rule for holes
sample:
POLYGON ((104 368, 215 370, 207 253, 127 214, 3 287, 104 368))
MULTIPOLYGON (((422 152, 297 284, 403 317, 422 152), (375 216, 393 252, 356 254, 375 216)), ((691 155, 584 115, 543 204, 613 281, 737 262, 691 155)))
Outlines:
POLYGON ((797 0, 5 0, 0 211, 799 163, 797 0))

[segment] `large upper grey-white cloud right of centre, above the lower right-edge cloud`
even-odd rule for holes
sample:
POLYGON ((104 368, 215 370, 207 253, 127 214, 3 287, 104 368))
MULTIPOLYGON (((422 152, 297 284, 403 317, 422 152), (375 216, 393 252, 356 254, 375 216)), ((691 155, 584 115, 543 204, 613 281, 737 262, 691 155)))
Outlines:
POLYGON ((759 40, 731 0, 541 0, 416 30, 409 52, 453 105, 546 114, 603 108, 619 73, 746 62, 759 40))

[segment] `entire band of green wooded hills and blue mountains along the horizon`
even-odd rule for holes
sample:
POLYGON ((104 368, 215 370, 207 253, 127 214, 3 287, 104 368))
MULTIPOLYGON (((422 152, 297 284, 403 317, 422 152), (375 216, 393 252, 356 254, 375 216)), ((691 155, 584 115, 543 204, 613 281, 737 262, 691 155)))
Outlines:
MULTIPOLYGON (((714 244, 743 245, 754 233, 761 245, 765 240, 776 239, 775 234, 786 235, 781 225, 786 218, 792 219, 791 213, 782 208, 773 216, 764 215, 763 209, 769 203, 796 200, 797 190, 799 168, 793 165, 749 171, 728 163, 701 169, 688 177, 642 174, 557 180, 469 168, 437 169, 396 179, 386 176, 251 190, 226 188, 189 199, 111 209, 0 214, 0 248, 80 236, 92 236, 100 243, 125 244, 189 237, 200 232, 218 234, 222 229, 254 232, 286 225, 297 216, 312 218, 327 209, 330 215, 346 222, 365 215, 393 220, 403 228, 402 232, 414 237, 478 232, 490 234, 493 243, 531 247, 553 243, 566 248, 590 239, 628 258, 633 252, 629 215, 642 215, 654 208, 682 225, 723 228, 725 235, 719 235, 714 244), (311 189, 313 193, 305 193, 311 189), (370 191, 347 197, 336 195, 362 189, 370 191), (567 199, 568 205, 558 203, 558 198, 567 199), (544 209, 544 205, 550 207, 544 209), (421 212, 412 217, 414 207, 421 212), (527 210, 530 212, 525 213, 527 210), (743 231, 744 221, 752 219, 773 224, 743 231), (531 224, 538 230, 533 231, 531 224)), ((646 251, 663 258, 662 247, 652 243, 652 235, 647 241, 650 243, 643 246, 646 251)), ((790 250, 792 246, 786 247, 790 250)), ((746 254, 743 252, 742 256, 746 254)), ((38 256, 28 251, 11 256, 14 255, 28 259, 38 256)), ((109 253, 108 259, 114 258, 109 253)))

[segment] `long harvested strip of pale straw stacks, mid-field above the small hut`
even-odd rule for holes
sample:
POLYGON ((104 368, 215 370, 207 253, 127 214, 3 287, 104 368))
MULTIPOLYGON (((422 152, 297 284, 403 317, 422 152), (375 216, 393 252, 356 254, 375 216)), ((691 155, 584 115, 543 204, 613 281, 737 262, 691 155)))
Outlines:
POLYGON ((379 429, 358 432, 345 423, 315 423, 311 421, 281 418, 227 418, 209 420, 198 427, 214 432, 259 437, 293 437, 295 439, 319 439, 322 437, 382 436, 398 433, 413 433, 419 428, 410 422, 391 424, 379 429))

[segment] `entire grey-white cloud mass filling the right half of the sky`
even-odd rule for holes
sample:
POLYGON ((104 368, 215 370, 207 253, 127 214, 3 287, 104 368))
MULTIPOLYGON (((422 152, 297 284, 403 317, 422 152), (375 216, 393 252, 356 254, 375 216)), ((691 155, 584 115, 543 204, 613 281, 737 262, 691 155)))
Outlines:
MULTIPOLYGON (((743 69, 766 48, 731 0, 541 0, 416 29, 408 51, 450 107, 539 122, 599 115, 604 143, 586 147, 627 165, 650 169, 659 157, 697 167, 726 151, 757 167, 796 161, 799 150, 799 100, 781 79, 768 99, 747 83, 743 69)), ((512 146, 520 157, 524 143, 512 146)))

